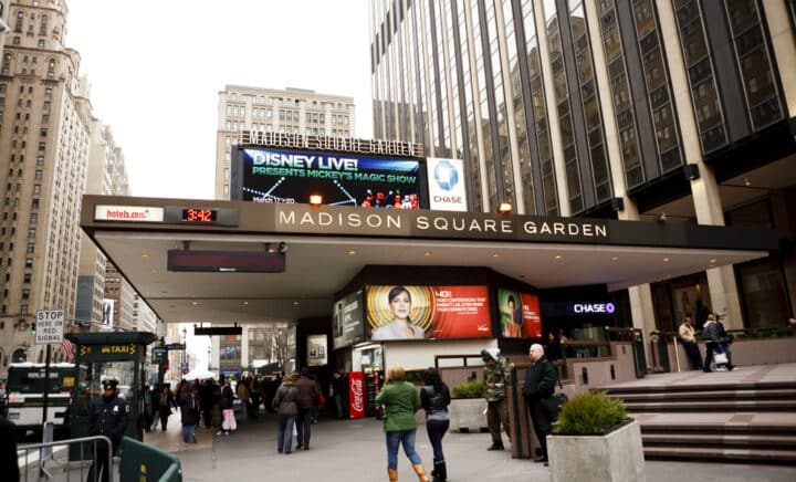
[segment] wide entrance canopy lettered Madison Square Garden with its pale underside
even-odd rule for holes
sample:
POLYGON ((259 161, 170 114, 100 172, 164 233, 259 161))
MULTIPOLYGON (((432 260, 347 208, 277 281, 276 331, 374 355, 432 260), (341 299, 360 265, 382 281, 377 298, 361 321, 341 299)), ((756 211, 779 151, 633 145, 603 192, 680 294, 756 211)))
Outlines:
POLYGON ((486 266, 537 289, 619 290, 778 249, 773 230, 106 196, 83 198, 81 226, 166 323, 328 316, 366 265, 486 266))

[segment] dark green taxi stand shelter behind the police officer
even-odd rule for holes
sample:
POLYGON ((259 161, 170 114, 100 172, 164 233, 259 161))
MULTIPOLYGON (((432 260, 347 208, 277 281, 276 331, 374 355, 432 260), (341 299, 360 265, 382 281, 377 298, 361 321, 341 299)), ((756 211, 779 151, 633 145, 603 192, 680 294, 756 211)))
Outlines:
MULTIPOLYGON (((148 332, 71 333, 66 339, 75 344, 78 367, 70 407, 72 438, 88 436, 92 400, 102 396, 102 381, 113 378, 118 381, 119 396, 125 397, 129 410, 125 436, 143 440, 146 349, 157 336, 148 332)), ((70 460, 80 458, 81 448, 70 446, 70 460)))

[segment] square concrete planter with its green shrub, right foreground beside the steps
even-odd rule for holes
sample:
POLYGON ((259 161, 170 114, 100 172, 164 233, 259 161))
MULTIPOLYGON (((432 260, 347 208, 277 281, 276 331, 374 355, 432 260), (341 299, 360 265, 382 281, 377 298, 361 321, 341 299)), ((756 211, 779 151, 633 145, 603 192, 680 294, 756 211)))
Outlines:
POLYGON ((547 457, 553 482, 646 481, 641 429, 621 400, 603 391, 564 404, 547 457))

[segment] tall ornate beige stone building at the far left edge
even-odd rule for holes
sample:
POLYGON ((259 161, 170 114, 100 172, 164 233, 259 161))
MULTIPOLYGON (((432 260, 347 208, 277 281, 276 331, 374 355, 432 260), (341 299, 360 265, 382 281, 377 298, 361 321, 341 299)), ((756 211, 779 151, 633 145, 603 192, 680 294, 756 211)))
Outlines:
MULTIPOLYGON (((10 30, 0 64, 0 356, 36 360, 36 310, 74 318, 80 199, 91 137, 80 55, 63 44, 63 1, 8 4, 10 30)), ((56 354, 57 359, 57 354, 56 354)))

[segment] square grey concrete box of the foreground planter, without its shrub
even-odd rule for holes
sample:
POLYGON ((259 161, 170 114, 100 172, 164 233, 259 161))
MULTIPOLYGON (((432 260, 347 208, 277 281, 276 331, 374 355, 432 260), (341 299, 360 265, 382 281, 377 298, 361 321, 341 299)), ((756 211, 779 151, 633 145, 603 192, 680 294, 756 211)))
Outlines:
POLYGON ((646 482, 641 428, 631 421, 605 436, 548 436, 552 482, 646 482))

